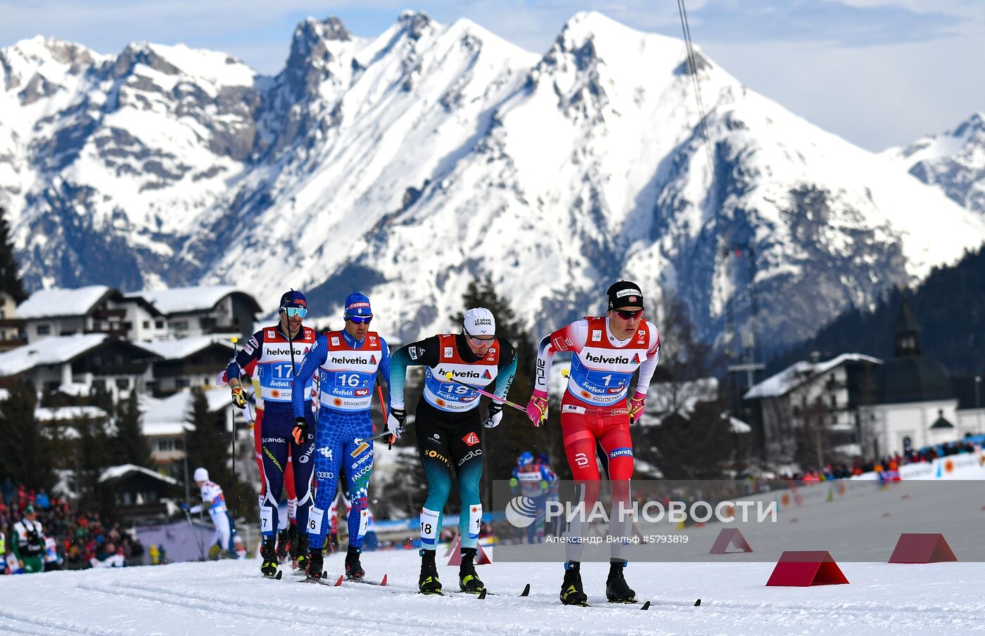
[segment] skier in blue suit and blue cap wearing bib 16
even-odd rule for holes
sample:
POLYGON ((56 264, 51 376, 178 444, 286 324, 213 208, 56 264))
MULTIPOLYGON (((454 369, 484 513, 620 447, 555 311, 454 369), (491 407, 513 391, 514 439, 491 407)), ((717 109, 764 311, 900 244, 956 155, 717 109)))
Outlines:
MULTIPOLYGON (((362 538, 369 521, 368 488, 372 472, 372 420, 369 406, 380 375, 389 384, 390 351, 386 341, 369 331, 372 308, 369 298, 351 293, 345 302, 346 327, 318 337, 304 356, 295 386, 302 387, 318 372, 318 433, 315 439, 314 474, 318 484, 308 517, 308 578, 322 574, 322 547, 328 532, 325 511, 332 505, 339 474, 345 468, 346 491, 352 501, 349 513, 349 551, 346 576, 361 579, 362 538), (343 467, 343 461, 346 466, 343 467)), ((294 393, 295 415, 303 417, 300 391, 294 393)))

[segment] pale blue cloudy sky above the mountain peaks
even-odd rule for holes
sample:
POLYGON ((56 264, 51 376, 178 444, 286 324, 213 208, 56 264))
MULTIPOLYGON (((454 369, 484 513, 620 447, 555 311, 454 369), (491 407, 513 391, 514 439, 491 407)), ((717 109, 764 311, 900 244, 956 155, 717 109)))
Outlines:
MULTIPOLYGON (((754 91, 863 148, 880 151, 985 111, 980 0, 687 0, 690 33, 754 91)), ((232 53, 265 73, 287 57, 296 24, 337 16, 383 32, 404 9, 468 18, 528 50, 548 49, 574 13, 681 36, 675 0, 0 0, 0 46, 41 33, 117 53, 149 40, 232 53)))

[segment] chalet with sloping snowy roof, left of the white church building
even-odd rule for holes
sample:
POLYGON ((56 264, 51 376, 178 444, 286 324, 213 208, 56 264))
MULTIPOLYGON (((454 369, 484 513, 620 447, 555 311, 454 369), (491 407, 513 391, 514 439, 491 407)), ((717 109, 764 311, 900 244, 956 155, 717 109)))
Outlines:
POLYGON ((871 392, 871 369, 882 363, 842 353, 796 362, 754 385, 743 399, 759 403, 764 459, 788 464, 800 451, 811 465, 823 466, 832 452, 845 459, 860 455, 859 406, 871 392))

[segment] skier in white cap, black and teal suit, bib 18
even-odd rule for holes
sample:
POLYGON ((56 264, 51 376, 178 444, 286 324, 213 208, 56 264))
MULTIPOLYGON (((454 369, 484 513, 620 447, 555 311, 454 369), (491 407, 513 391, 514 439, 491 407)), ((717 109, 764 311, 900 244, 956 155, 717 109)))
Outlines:
POLYGON ((489 416, 479 415, 479 394, 468 386, 483 388, 495 380, 495 395, 506 398, 516 372, 513 346, 495 337, 493 312, 483 307, 465 312, 461 334, 432 336, 411 343, 393 354, 390 375, 390 414, 387 429, 399 437, 407 419, 404 381, 407 367, 425 366, 424 399, 418 403, 415 435, 427 477, 427 501, 421 511, 421 577, 418 587, 425 594, 439 594, 434 550, 441 534, 441 515, 451 490, 454 466, 462 498, 459 529, 462 564, 458 585, 464 592, 479 594, 483 582, 476 575, 476 545, 482 525, 483 506, 479 479, 483 473, 483 426, 492 428, 502 419, 502 404, 493 402, 489 416), (451 373, 457 382, 448 379, 451 373))

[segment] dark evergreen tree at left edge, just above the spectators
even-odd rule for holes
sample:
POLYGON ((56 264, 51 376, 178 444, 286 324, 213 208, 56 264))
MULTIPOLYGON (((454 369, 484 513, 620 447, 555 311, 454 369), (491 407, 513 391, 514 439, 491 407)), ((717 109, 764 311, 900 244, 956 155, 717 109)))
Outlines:
POLYGON ((9 388, 0 402, 0 475, 10 476, 29 488, 50 490, 54 485, 54 458, 50 440, 34 417, 34 389, 30 382, 9 388))

